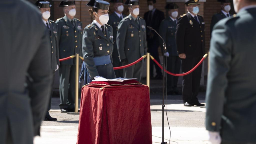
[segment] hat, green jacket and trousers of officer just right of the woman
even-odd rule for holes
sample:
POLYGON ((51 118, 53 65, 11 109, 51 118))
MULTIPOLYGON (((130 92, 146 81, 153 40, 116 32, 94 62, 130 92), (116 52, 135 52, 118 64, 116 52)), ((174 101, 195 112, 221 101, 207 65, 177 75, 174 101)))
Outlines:
MULTIPOLYGON (((139 2, 136 0, 127 0, 126 3, 129 5, 138 5, 139 2), (127 2, 128 1, 128 2, 127 2)), ((136 21, 132 15, 125 17, 121 20, 118 25, 117 32, 117 49, 120 56, 120 60, 127 59, 127 65, 142 57, 147 50, 146 42, 146 22, 143 18, 137 17, 136 21)), ((137 78, 138 81, 141 79, 142 74, 142 61, 139 63, 125 68, 125 78, 137 78)))

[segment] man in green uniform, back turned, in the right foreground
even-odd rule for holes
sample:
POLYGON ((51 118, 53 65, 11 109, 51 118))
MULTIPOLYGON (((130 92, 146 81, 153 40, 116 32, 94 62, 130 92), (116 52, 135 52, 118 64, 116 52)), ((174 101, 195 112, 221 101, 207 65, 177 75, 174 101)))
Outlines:
POLYGON ((210 44, 206 129, 214 144, 256 143, 256 1, 234 1, 234 9, 210 44))

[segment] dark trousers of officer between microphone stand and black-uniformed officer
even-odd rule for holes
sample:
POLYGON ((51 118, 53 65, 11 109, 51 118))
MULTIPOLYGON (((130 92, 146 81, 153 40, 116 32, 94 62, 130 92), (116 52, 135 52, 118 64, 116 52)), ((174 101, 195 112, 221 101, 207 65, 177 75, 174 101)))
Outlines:
MULTIPOLYGON (((166 70, 170 71, 171 73, 174 74, 179 74, 180 70, 180 58, 178 56, 169 56, 167 58, 167 64, 166 64, 166 70)), ((177 89, 177 83, 178 83, 178 78, 177 76, 172 76, 167 74, 167 91, 175 91, 178 92, 177 89)))

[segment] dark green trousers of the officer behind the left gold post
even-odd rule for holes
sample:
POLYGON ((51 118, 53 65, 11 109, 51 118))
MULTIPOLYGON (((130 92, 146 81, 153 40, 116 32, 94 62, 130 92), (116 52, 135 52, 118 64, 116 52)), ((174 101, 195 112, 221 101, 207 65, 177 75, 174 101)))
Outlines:
POLYGON ((60 65, 60 109, 73 109, 75 101, 76 65, 60 65))

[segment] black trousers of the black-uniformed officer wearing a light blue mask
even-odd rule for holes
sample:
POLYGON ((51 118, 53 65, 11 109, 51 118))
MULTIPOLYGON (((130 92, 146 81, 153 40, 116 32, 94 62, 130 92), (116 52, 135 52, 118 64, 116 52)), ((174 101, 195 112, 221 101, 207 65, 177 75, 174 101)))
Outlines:
MULTIPOLYGON (((193 57, 182 59, 182 72, 185 73, 192 69, 201 60, 202 57, 193 57)), ((197 95, 200 87, 202 65, 198 66, 192 73, 183 76, 182 81, 182 99, 183 102, 194 104, 198 102, 197 95)))

